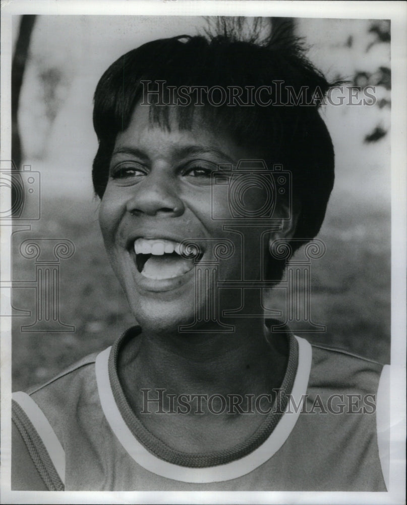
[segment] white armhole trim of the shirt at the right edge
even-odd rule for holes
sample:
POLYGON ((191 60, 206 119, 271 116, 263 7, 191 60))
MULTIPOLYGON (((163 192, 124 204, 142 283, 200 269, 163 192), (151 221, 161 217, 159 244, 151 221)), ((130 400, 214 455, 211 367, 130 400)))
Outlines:
POLYGON ((384 483, 389 489, 390 477, 390 365, 384 365, 376 401, 377 446, 384 483))

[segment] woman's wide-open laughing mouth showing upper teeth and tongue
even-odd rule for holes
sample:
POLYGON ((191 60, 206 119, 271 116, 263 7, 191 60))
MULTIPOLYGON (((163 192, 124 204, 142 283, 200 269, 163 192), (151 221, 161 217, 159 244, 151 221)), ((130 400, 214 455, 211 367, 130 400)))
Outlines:
POLYGON ((134 241, 137 270, 148 279, 172 279, 186 274, 203 256, 196 244, 166 239, 134 241))

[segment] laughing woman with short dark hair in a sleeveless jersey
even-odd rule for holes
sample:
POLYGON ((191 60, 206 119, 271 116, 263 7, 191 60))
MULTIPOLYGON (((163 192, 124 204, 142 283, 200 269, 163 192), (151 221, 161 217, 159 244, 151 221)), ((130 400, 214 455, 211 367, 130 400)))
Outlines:
POLYGON ((284 31, 226 28, 144 44, 99 81, 99 222, 139 325, 15 395, 14 489, 386 489, 382 366, 263 317, 324 219, 330 84, 284 31))

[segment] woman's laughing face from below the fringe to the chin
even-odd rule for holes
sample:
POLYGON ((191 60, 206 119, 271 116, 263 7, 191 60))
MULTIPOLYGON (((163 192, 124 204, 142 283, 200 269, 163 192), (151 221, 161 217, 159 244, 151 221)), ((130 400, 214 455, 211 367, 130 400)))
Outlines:
MULTIPOLYGON (((205 304, 214 289, 206 284, 196 299, 193 259, 180 255, 180 243, 191 239, 200 249, 198 266, 215 262, 213 245, 222 239, 235 252, 220 260, 219 279, 242 276, 242 239, 223 229, 213 216, 230 218, 227 185, 211 191, 211 173, 218 165, 260 158, 236 145, 219 130, 207 129, 199 114, 191 130, 180 130, 170 114, 170 131, 149 123, 149 107, 138 105, 127 130, 119 133, 100 207, 100 226, 110 261, 143 329, 175 330, 194 320, 196 306, 205 304)), ((253 189, 245 205, 259 208, 266 196, 253 189)), ((258 231, 253 232, 258 234, 258 231)), ((257 237, 249 236, 253 243, 257 237)), ((257 241, 256 241, 257 243, 257 241)), ((245 257, 246 275, 259 277, 259 253, 245 257)), ((247 256, 247 255, 246 255, 247 256)), ((218 296, 225 307, 228 290, 218 296)), ((236 300, 235 307, 240 304, 236 300)))

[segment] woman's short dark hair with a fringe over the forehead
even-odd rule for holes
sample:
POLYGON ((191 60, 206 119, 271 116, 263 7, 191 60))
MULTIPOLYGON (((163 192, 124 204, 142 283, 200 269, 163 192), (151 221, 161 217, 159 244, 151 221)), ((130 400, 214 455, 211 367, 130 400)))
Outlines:
MULTIPOLYGON (((93 185, 103 196, 117 134, 126 130, 143 93, 141 81, 165 80, 167 86, 274 86, 268 107, 213 107, 204 96, 199 112, 227 127, 239 144, 259 145, 268 162, 281 163, 293 174, 293 196, 300 205, 293 248, 318 233, 334 180, 334 153, 319 107, 331 85, 305 57, 294 37, 275 33, 263 42, 223 33, 181 35, 148 42, 120 57, 101 77, 94 95, 93 124, 99 148, 93 162, 93 185), (302 103, 289 103, 289 90, 304 93, 302 103), (288 102, 287 102, 288 100, 288 102), (307 104, 307 105, 306 105, 307 104)), ((291 95, 291 97, 293 94, 291 95)), ((179 127, 190 128, 196 107, 177 107, 179 127)), ((150 121, 169 128, 169 107, 152 104, 150 121)))

